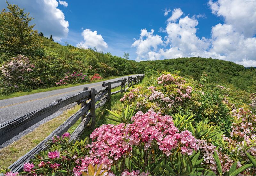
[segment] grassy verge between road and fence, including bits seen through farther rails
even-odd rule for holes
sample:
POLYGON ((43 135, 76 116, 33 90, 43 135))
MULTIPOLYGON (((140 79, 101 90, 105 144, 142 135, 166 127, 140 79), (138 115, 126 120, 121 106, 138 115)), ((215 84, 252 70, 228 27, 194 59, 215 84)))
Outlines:
MULTIPOLYGON (((112 89, 111 92, 116 90, 120 90, 120 87, 116 89, 112 89)), ((123 97, 123 93, 117 93, 111 96, 111 109, 112 111, 121 112, 122 104, 120 103, 120 98, 123 97)), ((102 106, 101 108, 96 109, 96 124, 95 128, 101 126, 102 124, 116 124, 116 122, 108 120, 105 118, 108 115, 106 111, 106 106, 102 106)), ((0 169, 5 169, 12 163, 14 163, 21 156, 26 154, 29 150, 34 148, 37 144, 39 144, 42 140, 44 140, 54 129, 56 129, 60 124, 62 124, 68 117, 74 114, 76 111, 80 109, 80 105, 76 105, 73 108, 70 108, 63 112, 60 116, 41 124, 38 128, 36 128, 33 132, 23 136, 20 140, 15 141, 9 146, 0 149, 0 169)), ((76 122, 68 132, 73 132, 76 127, 80 124, 80 120, 76 122)), ((89 137, 89 135, 93 132, 90 124, 84 130, 84 133, 81 135, 81 139, 85 137, 89 137)))

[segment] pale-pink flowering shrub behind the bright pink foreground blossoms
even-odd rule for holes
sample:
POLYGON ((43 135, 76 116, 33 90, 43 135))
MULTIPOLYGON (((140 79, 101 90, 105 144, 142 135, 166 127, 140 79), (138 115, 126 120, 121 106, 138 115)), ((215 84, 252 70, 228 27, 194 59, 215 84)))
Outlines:
POLYGON ((218 92, 203 92, 199 84, 177 74, 164 72, 156 79, 154 86, 135 86, 125 93, 120 101, 124 106, 135 106, 143 112, 153 108, 156 112, 169 115, 181 112, 181 108, 189 108, 188 110, 196 113, 196 122, 205 118, 218 119, 227 134, 231 131, 227 97, 220 96, 218 92))

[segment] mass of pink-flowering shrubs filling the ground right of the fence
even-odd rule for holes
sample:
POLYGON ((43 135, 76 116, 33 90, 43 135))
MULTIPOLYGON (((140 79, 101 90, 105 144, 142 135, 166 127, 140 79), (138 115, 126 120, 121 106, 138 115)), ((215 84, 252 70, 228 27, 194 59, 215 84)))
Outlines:
POLYGON ((108 117, 119 124, 95 129, 89 144, 54 137, 20 174, 254 175, 255 94, 204 84, 149 69, 121 98, 122 115, 108 117))

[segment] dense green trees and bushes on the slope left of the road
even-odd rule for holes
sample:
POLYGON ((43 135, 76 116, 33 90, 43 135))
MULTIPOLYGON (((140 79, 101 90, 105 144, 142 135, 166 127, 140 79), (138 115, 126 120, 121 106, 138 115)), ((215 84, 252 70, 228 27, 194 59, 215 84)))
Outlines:
POLYGON ((32 20, 29 13, 24 13, 23 9, 12 4, 8 4, 8 9, 4 9, 0 14, 2 95, 56 86, 56 82, 63 79, 68 72, 83 73, 87 77, 94 74, 100 74, 101 77, 123 76, 135 72, 134 61, 110 53, 97 52, 96 48, 80 49, 67 43, 66 46, 60 45, 51 37, 48 39, 42 32, 38 34, 33 30, 35 25, 29 25, 32 20), (18 59, 15 59, 17 57, 18 59), (27 65, 24 65, 25 62, 27 65), (32 65, 33 68, 29 71, 26 68, 24 72, 19 69, 20 63, 23 63, 24 67, 32 65))

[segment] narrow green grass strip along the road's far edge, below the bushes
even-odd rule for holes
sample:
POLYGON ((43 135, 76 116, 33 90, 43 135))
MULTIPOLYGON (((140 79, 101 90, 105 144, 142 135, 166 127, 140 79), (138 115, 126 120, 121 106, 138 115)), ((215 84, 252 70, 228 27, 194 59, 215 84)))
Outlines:
MULTIPOLYGON (((132 75, 134 75, 134 74, 132 74, 132 75)), ((130 75, 125 75, 125 76, 130 76, 130 75)), ((68 85, 62 85, 62 86, 58 86, 58 87, 49 87, 49 88, 44 88, 44 89, 36 89, 36 90, 32 90, 31 92, 15 92, 15 93, 12 93, 10 95, 0 96, 0 100, 8 99, 8 98, 13 98, 13 97, 20 97, 20 96, 23 96, 23 95, 30 95, 30 94, 34 94, 34 93, 40 93, 40 92, 64 89, 64 88, 74 87, 74 86, 78 86, 78 85, 97 83, 97 82, 100 82, 100 81, 106 81, 106 80, 115 79, 115 78, 118 78, 118 77, 122 77, 122 76, 111 76, 111 77, 107 77, 107 78, 104 78, 104 79, 101 79, 101 80, 97 80, 97 81, 93 81, 93 82, 88 82, 88 83, 68 84, 68 85)))

